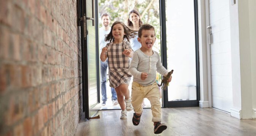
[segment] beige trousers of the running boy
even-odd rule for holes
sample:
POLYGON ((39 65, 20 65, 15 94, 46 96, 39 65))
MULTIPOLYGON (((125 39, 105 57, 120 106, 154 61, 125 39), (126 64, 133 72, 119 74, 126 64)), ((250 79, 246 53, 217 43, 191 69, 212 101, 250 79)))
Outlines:
POLYGON ((159 88, 156 82, 146 87, 137 82, 132 82, 132 106, 135 113, 141 114, 143 112, 142 102, 144 98, 148 98, 150 101, 153 115, 152 121, 161 122, 162 108, 159 88))

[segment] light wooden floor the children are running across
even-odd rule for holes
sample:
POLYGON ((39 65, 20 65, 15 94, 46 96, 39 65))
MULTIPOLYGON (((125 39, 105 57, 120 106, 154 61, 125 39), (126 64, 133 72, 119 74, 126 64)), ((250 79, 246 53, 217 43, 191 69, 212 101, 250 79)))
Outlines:
POLYGON ((162 108, 162 123, 167 129, 154 134, 150 109, 144 109, 140 124, 132 124, 133 111, 128 119, 119 119, 121 110, 99 111, 100 119, 81 121, 76 136, 256 136, 256 119, 231 117, 213 108, 162 108))

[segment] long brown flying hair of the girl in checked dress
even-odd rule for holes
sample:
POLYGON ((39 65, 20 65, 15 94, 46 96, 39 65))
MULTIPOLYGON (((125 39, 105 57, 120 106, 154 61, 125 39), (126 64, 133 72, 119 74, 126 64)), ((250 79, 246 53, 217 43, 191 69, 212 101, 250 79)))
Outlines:
POLYGON ((112 35, 112 30, 113 30, 113 26, 116 25, 116 24, 121 24, 124 28, 124 39, 126 39, 128 42, 130 42, 130 38, 134 38, 135 35, 137 35, 137 33, 135 31, 133 31, 132 29, 128 28, 126 25, 124 25, 123 22, 121 21, 116 21, 112 24, 111 26, 111 29, 110 29, 110 33, 107 34, 107 36, 105 37, 105 41, 110 41, 110 42, 113 42, 114 41, 114 37, 112 35))

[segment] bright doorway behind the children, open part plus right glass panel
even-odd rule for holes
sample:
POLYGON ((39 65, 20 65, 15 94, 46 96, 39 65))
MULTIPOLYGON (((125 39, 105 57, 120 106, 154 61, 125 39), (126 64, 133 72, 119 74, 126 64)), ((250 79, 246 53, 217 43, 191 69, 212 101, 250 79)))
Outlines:
MULTIPOLYGON (((176 0, 130 0, 122 3, 119 0, 98 0, 98 9, 98 28, 102 27, 100 17, 104 13, 110 15, 110 26, 116 20, 127 24, 132 9, 140 13, 143 23, 153 25, 157 39, 153 50, 161 55, 167 70, 174 70, 168 90, 160 91, 162 107, 199 106, 197 0, 186 3, 176 0)), ((156 79, 161 82, 162 76, 157 73, 156 79)), ((132 81, 130 91, 131 84, 132 81)), ((101 109, 120 109, 119 106, 112 105, 109 82, 107 96, 107 106, 101 109)), ((102 101, 101 93, 100 100, 102 101)), ((151 107, 147 99, 144 107, 151 107)))

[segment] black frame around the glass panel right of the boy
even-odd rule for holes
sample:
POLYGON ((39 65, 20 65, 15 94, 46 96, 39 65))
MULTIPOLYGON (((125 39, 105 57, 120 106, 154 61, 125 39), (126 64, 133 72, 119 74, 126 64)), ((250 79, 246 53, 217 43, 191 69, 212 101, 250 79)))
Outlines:
MULTIPOLYGON (((162 64, 167 69, 167 45, 166 45, 166 17, 165 0, 160 2, 160 24, 161 24, 161 57, 162 64)), ((199 75, 199 34, 198 34, 198 8, 197 0, 194 0, 194 26, 195 26, 195 46, 196 46, 196 100, 168 101, 168 88, 163 91, 162 104, 164 108, 168 107, 198 107, 200 99, 200 75, 199 75)))

